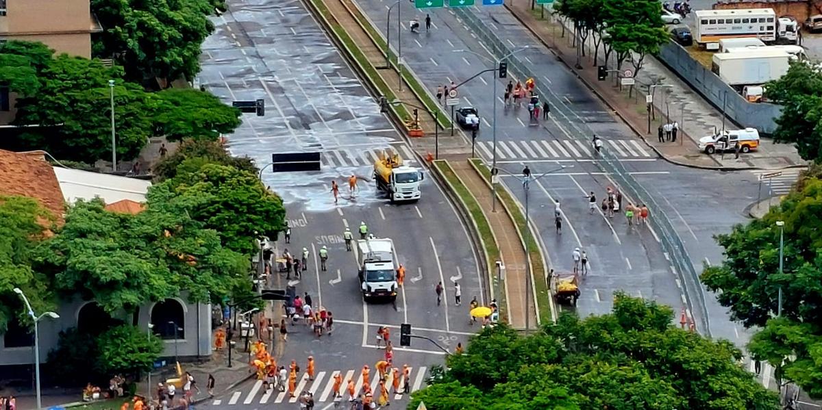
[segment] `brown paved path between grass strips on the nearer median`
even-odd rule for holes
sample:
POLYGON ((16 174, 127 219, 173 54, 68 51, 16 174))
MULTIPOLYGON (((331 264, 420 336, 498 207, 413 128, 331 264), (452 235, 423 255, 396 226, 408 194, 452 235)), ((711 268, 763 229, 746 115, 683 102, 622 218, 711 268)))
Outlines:
MULTIPOLYGON (((514 221, 508 216, 501 204, 497 204, 496 212, 492 212, 491 192, 483 177, 469 164, 468 159, 449 161, 451 168, 477 199, 483 209, 492 233, 496 237, 496 244, 500 248, 503 265, 506 266, 505 289, 508 302, 508 321, 514 329, 525 328, 525 299, 529 296, 525 288, 525 250, 520 237, 516 233, 514 221)), ((531 302, 528 310, 529 322, 532 329, 537 326, 535 303, 531 302)))

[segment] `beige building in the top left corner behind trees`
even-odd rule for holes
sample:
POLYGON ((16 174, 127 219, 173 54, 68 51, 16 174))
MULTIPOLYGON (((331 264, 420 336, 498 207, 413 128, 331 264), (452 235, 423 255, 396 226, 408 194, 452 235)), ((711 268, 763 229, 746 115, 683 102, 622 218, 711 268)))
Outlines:
MULTIPOLYGON (((89 0, 0 0, 0 43, 39 41, 57 53, 91 57, 91 33, 101 27, 89 0)), ((14 118, 14 95, 0 85, 0 124, 14 118)))

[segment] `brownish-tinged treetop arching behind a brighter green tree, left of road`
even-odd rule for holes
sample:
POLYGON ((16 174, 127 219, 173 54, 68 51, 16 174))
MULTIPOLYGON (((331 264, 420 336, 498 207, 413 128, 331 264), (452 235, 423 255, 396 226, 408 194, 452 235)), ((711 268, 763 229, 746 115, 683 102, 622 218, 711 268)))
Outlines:
POLYGON ((225 165, 247 173, 259 173, 254 161, 248 157, 233 157, 219 141, 182 141, 173 154, 166 155, 155 165, 154 173, 159 182, 177 175, 177 167, 187 159, 200 159, 203 163, 225 165))

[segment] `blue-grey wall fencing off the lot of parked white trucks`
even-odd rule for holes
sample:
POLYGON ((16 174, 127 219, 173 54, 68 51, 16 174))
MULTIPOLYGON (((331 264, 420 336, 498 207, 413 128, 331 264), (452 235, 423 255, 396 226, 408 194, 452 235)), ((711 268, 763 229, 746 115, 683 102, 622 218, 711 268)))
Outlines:
POLYGON ((716 74, 691 58, 686 49, 679 44, 664 45, 660 49, 658 59, 720 110, 725 99, 727 117, 741 127, 753 127, 765 133, 776 129, 774 120, 779 117, 781 106, 747 102, 730 85, 725 84, 716 74))

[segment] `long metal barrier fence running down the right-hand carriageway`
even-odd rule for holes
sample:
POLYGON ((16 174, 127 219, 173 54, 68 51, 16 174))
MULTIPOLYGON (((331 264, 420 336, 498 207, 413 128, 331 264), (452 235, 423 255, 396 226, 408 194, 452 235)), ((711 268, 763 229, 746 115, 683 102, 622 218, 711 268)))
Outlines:
MULTIPOLYGON (((511 48, 506 45, 502 39, 498 38, 492 30, 488 30, 488 25, 480 20, 480 18, 472 12, 472 9, 473 7, 453 7, 451 10, 455 12, 455 16, 473 31, 473 34, 478 36, 478 40, 481 41, 495 57, 500 58, 510 53, 511 48)), ((510 56, 506 61, 508 62, 508 71, 519 78, 528 78, 529 76, 533 76, 533 74, 529 73, 539 72, 537 67, 531 67, 533 64, 526 64, 520 60, 517 55, 510 56)), ((535 91, 541 99, 549 101, 549 103, 552 104, 552 113, 561 117, 561 119, 566 122, 569 126, 566 130, 569 136, 579 141, 588 141, 589 143, 592 141, 594 133, 584 122, 584 119, 570 109, 566 102, 563 101, 559 95, 555 94, 550 87, 537 85, 535 91)), ((659 242, 662 245, 663 251, 675 269, 677 269, 677 274, 680 276, 680 280, 685 287, 686 303, 690 307, 690 310, 695 310, 694 302, 697 302, 698 306, 700 306, 699 317, 702 327, 701 333, 710 337, 710 323, 708 312, 706 311, 707 308, 705 307, 705 296, 700 283, 700 277, 691 262, 685 244, 682 243, 677 230, 673 228, 671 219, 667 217, 665 210, 653 199, 653 196, 630 175, 616 156, 608 152, 607 149, 603 149, 600 155, 603 160, 595 161, 594 164, 597 164, 598 168, 602 169, 604 173, 611 174, 620 186, 621 191, 626 192, 638 203, 647 205, 652 211, 652 218, 649 218, 649 224, 654 232, 658 233, 659 242), (698 299, 693 301, 693 296, 698 299)))

